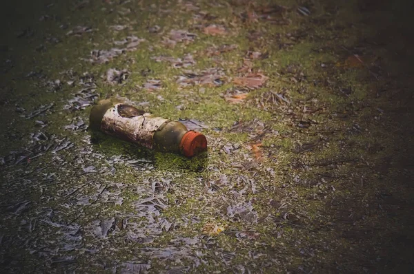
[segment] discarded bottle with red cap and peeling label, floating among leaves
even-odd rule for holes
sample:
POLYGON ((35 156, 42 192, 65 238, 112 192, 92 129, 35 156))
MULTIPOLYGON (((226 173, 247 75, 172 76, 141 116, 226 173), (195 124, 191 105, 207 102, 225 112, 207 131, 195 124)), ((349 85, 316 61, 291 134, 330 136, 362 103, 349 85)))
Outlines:
POLYGON ((118 99, 101 100, 90 112, 90 128, 149 149, 193 157, 207 150, 206 136, 177 121, 152 116, 118 99))

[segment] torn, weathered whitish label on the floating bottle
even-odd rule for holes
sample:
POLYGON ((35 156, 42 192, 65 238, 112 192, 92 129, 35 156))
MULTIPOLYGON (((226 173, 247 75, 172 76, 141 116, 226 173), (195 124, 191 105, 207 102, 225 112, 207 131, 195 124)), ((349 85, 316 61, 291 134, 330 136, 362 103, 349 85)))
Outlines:
POLYGON ((154 132, 168 119, 155 117, 149 113, 130 118, 122 117, 118 113, 118 105, 122 104, 111 107, 103 115, 101 130, 106 134, 152 149, 154 132))

